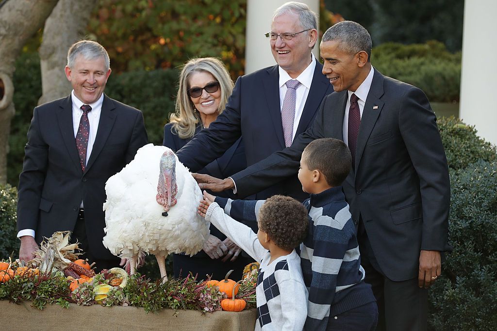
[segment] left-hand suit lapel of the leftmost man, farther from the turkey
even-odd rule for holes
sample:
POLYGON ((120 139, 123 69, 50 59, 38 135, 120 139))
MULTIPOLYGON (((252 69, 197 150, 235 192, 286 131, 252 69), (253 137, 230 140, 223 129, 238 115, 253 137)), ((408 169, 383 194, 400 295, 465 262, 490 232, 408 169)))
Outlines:
POLYGON ((78 153, 78 147, 76 147, 76 138, 74 137, 74 125, 73 125, 73 101, 71 96, 62 99, 59 104, 59 109, 57 110, 57 121, 59 122, 59 128, 62 133, 62 139, 66 145, 67 151, 69 153, 69 158, 73 162, 79 171, 82 171, 80 164, 80 154, 78 153))

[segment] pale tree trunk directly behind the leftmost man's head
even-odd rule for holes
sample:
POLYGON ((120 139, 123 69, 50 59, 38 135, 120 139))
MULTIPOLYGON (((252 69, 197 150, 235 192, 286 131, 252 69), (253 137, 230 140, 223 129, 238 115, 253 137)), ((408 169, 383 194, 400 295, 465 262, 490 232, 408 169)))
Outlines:
POLYGON ((71 83, 64 73, 67 51, 84 37, 96 3, 97 0, 59 0, 47 18, 39 51, 43 91, 39 105, 71 93, 71 83))

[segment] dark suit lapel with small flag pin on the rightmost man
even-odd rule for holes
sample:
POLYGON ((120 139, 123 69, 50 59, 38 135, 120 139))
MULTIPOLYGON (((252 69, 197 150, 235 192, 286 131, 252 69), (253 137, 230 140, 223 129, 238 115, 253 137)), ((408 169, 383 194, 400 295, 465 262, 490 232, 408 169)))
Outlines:
POLYGON ((362 111, 361 124, 357 135, 355 173, 357 173, 357 168, 361 162, 362 152, 364 151, 369 135, 371 134, 376 120, 378 119, 378 116, 380 116, 383 105, 385 104, 380 100, 380 97, 383 95, 383 81, 383 75, 375 69, 373 81, 371 82, 371 88, 369 89, 368 97, 364 104, 364 110, 362 111))

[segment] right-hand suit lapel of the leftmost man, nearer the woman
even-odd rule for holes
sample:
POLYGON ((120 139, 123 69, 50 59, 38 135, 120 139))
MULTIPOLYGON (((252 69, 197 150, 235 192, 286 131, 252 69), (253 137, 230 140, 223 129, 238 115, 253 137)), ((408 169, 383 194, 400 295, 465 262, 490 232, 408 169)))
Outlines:
POLYGON ((86 164, 84 172, 86 173, 95 162, 98 154, 102 150, 107 138, 109 137, 112 126, 116 120, 116 111, 114 103, 106 96, 103 97, 102 110, 100 113, 100 121, 98 122, 98 130, 96 132, 95 142, 91 149, 90 158, 86 164))

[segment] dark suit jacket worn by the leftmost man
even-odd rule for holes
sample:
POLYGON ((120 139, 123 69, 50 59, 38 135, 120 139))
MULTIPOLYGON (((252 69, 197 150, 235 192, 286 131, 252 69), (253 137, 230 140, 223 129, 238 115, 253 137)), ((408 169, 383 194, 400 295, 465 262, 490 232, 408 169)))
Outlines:
POLYGON ((83 201, 89 250, 99 259, 112 259, 115 257, 102 244, 105 182, 147 143, 143 115, 105 95, 97 135, 83 173, 72 107, 68 96, 34 109, 19 176, 17 228, 35 230, 38 244, 55 231, 72 231, 83 201))

